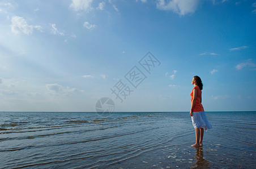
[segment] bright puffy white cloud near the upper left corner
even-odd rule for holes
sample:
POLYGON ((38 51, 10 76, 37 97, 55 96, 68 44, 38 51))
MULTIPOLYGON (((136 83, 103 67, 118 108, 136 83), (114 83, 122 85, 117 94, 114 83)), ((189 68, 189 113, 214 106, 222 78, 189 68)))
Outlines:
POLYGON ((24 33, 24 34, 32 34, 34 29, 40 30, 42 29, 39 25, 28 25, 27 21, 23 19, 23 17, 12 16, 11 18, 11 31, 15 34, 24 33))

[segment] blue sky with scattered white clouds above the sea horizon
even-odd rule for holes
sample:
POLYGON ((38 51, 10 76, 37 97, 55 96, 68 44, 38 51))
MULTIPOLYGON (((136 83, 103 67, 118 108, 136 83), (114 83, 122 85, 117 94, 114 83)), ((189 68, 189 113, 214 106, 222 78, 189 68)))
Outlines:
POLYGON ((256 110, 255 30, 255 0, 1 1, 0 110, 189 111, 194 75, 206 111, 256 110))

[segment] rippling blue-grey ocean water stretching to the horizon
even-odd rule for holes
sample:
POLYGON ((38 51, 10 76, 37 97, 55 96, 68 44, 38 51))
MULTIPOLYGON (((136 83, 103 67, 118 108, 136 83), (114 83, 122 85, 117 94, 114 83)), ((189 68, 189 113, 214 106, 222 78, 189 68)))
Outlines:
POLYGON ((0 168, 255 168, 256 112, 0 112, 0 168))

